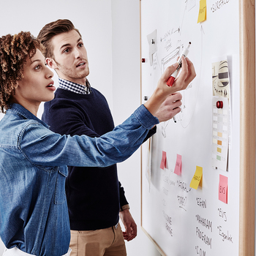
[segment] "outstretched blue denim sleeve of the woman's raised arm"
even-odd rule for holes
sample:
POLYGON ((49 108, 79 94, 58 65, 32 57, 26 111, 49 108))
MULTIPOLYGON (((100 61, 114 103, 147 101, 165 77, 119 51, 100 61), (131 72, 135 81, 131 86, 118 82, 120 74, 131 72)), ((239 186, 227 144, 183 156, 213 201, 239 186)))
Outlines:
POLYGON ((107 167, 130 157, 159 121, 141 105, 112 132, 99 138, 59 135, 37 122, 20 133, 18 147, 35 165, 107 167))

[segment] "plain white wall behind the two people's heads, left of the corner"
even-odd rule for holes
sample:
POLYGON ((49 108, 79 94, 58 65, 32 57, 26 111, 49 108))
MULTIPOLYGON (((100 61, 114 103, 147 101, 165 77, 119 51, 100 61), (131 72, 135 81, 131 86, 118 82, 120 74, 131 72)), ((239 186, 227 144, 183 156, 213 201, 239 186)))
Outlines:
MULTIPOLYGON (((0 36, 31 31, 35 37, 46 23, 67 18, 80 30, 88 51, 89 82, 107 97, 112 108, 111 0, 3 0, 0 36)), ((38 117, 42 115, 39 111, 38 117)), ((1 116, 0 116, 1 118, 1 116)))

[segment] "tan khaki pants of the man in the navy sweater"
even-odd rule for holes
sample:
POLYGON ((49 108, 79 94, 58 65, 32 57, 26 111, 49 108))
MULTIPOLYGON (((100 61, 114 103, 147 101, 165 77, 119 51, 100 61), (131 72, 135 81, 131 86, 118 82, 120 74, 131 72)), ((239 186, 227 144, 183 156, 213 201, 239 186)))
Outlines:
POLYGON ((102 230, 71 230, 70 256, 126 256, 120 225, 102 230))

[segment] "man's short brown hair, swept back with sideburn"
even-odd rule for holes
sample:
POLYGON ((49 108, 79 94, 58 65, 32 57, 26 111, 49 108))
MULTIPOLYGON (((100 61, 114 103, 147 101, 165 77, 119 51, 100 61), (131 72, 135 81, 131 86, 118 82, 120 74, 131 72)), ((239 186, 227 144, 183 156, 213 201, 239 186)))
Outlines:
POLYGON ((54 58, 51 39, 58 34, 67 33, 72 30, 77 31, 80 37, 82 37, 78 29, 75 29, 73 23, 67 19, 50 22, 41 29, 37 39, 45 46, 45 58, 54 58))

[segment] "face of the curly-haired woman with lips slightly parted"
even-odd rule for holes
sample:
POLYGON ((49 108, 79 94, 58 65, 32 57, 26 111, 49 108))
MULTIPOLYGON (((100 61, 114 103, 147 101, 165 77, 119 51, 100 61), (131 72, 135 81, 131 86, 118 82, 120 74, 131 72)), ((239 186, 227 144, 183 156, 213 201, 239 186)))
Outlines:
POLYGON ((53 86, 53 72, 45 66, 45 57, 40 50, 24 65, 24 78, 19 80, 13 96, 14 102, 37 113, 39 104, 53 99, 56 88, 53 86))

